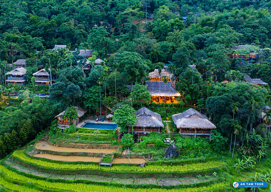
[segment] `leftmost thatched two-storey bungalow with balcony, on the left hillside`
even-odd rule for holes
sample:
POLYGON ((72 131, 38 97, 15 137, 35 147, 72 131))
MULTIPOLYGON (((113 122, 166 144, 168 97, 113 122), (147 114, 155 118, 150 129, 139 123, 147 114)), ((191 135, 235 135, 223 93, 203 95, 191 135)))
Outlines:
POLYGON ((8 73, 5 73, 5 75, 8 75, 8 79, 6 79, 6 82, 12 85, 25 85, 25 74, 25 68, 16 68, 8 73))

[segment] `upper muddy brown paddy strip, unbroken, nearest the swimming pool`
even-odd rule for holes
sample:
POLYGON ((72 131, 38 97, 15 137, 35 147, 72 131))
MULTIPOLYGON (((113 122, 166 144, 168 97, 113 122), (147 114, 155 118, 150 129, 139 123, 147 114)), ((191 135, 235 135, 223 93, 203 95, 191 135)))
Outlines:
POLYGON ((56 152, 86 152, 86 153, 102 153, 102 152, 117 152, 117 149, 75 149, 67 147, 56 147, 49 145, 47 142, 39 142, 35 145, 36 149, 49 150, 56 152))

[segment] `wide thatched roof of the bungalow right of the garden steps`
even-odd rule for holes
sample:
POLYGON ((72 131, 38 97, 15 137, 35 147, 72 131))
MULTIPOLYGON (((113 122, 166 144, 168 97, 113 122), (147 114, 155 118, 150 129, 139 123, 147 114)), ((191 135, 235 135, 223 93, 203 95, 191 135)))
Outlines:
POLYGON ((171 116, 174 124, 180 128, 201 128, 201 129, 216 129, 216 126, 197 110, 190 108, 183 113, 178 113, 171 116))

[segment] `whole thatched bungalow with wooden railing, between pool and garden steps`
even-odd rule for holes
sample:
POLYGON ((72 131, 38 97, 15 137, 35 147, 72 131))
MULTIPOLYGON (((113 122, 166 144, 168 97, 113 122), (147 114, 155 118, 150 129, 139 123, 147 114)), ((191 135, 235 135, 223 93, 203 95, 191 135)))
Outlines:
MULTIPOLYGON (((146 107, 136 111, 137 121, 133 125, 135 132, 159 132, 160 128, 164 128, 163 120, 160 114, 149 110, 146 107)), ((132 128, 129 128, 132 131, 132 128)))

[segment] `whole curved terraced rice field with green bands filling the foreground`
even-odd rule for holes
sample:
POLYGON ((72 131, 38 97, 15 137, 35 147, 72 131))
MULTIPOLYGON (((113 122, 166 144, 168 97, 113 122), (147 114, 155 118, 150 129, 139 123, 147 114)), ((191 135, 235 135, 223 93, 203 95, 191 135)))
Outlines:
MULTIPOLYGON (((43 145, 44 143, 39 143, 35 147, 42 148, 43 145)), ((66 150, 58 147, 52 149, 66 150)), ((116 164, 119 161, 131 165, 129 159, 116 158, 114 161, 116 164)), ((131 161, 145 162, 143 159, 131 161)), ((212 176, 214 170, 217 171, 225 165, 222 161, 210 160, 174 166, 146 164, 142 168, 123 165, 100 167, 97 162, 99 158, 94 157, 50 154, 30 156, 23 150, 17 150, 9 161, 1 162, 0 191, 224 192, 225 189, 231 191, 230 184, 212 176), (68 162, 70 159, 74 162, 68 162), (205 173, 209 177, 197 178, 195 173, 205 173), (174 177, 168 177, 171 174, 174 177)))

